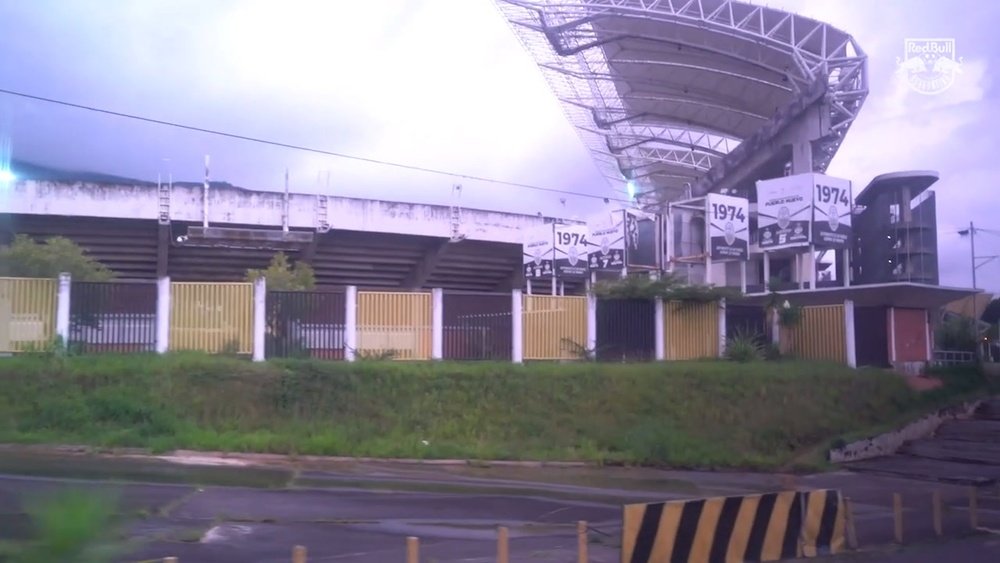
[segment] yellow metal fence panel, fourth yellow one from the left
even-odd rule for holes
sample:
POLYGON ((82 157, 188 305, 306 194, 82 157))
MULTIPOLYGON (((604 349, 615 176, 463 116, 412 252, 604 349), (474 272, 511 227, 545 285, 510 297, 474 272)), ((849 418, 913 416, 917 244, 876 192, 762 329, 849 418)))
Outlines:
POLYGON ((525 295, 524 359, 580 359, 587 346, 587 298, 525 295))

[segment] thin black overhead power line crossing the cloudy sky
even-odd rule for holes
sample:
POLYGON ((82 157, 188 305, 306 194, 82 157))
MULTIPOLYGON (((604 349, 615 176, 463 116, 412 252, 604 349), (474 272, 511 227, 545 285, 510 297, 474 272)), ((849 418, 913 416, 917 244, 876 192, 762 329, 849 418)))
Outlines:
POLYGON ((144 116, 141 116, 141 115, 124 113, 124 112, 120 112, 120 111, 114 111, 114 110, 109 110, 109 109, 105 109, 105 108, 99 108, 99 107, 95 107, 95 106, 88 106, 88 105, 85 105, 85 104, 78 104, 78 103, 74 103, 74 102, 68 102, 66 100, 57 100, 55 98, 47 98, 45 96, 38 96, 38 95, 35 95, 35 94, 28 94, 26 92, 17 92, 15 90, 7 90, 5 88, 0 88, 0 93, 7 94, 7 95, 10 95, 10 96, 17 96, 17 97, 20 97, 20 98, 27 98, 27 99, 30 99, 30 100, 36 100, 36 101, 40 101, 40 102, 46 102, 46 103, 50 103, 50 104, 56 104, 56 105, 60 105, 60 106, 66 106, 66 107, 81 109, 81 110, 85 110, 85 111, 92 111, 92 112, 96 112, 96 113, 102 113, 102 114, 105 114, 105 115, 112 115, 112 116, 115 116, 115 117, 122 117, 122 118, 125 118, 125 119, 132 119, 132 120, 136 120, 136 121, 144 121, 146 123, 153 123, 155 125, 163 125, 163 126, 166 126, 166 127, 174 127, 174 128, 177 128, 177 129, 186 129, 188 131, 196 131, 198 133, 206 133, 208 135, 216 135, 216 136, 220 136, 220 137, 228 137, 230 139, 238 139, 238 140, 241 140, 241 141, 248 141, 248 142, 251 142, 251 143, 260 143, 260 144, 271 145, 271 146, 275 146, 275 147, 283 147, 283 148, 286 148, 286 149, 292 149, 292 150, 304 151, 304 152, 311 152, 311 153, 315 153, 315 154, 322 154, 322 155, 333 156, 333 157, 337 157, 337 158, 345 158, 345 159, 349 159, 349 160, 357 160, 357 161, 361 161, 361 162, 368 162, 368 163, 371 163, 371 164, 378 164, 378 165, 381 165, 381 166, 392 166, 392 167, 395 167, 395 168, 402 168, 402 169, 405 169, 405 170, 414 170, 414 171, 417 171, 417 172, 426 172, 426 173, 429 173, 429 174, 438 174, 438 175, 442 175, 442 176, 450 176, 452 178, 462 178, 462 179, 466 179, 466 180, 476 180, 476 181, 480 181, 480 182, 489 182, 489 183, 492 183, 492 184, 503 184, 503 185, 513 186, 513 187, 517 187, 517 188, 524 188, 524 189, 528 189, 528 190, 536 190, 536 191, 540 191, 540 192, 547 192, 547 193, 553 193, 553 194, 572 195, 572 196, 576 196, 576 197, 586 197, 586 198, 600 199, 600 200, 605 200, 605 201, 617 201, 617 202, 621 202, 621 203, 629 203, 628 200, 621 199, 621 198, 616 198, 616 197, 607 197, 607 196, 587 194, 587 193, 582 193, 582 192, 574 192, 572 190, 561 190, 561 189, 558 189, 558 188, 546 188, 544 186, 536 186, 536 185, 533 185, 533 184, 523 184, 523 183, 520 183, 520 182, 510 182, 510 181, 507 181, 507 180, 498 180, 496 178, 486 178, 484 176, 476 176, 476 175, 473 175, 473 174, 463 174, 461 172, 449 172, 447 170, 438 170, 436 168, 427 168, 427 167, 423 167, 423 166, 417 166, 417 165, 414 165, 414 164, 402 164, 402 163, 399 163, 399 162, 390 162, 390 161, 387 161, 387 160, 380 160, 380 159, 377 159, 377 158, 371 158, 371 157, 365 157, 365 156, 357 156, 357 155, 346 154, 346 153, 340 153, 340 152, 329 151, 329 150, 325 150, 325 149, 318 149, 318 148, 315 148, 315 147, 307 147, 307 146, 304 146, 304 145, 296 145, 296 144, 292 144, 292 143, 284 143, 284 142, 281 142, 281 141, 272 141, 272 140, 263 139, 263 138, 260 138, 260 137, 251 137, 251 136, 248 136, 248 135, 240 135, 238 133, 228 133, 226 131, 219 131, 219 130, 216 130, 216 129, 208 129, 206 127, 197 127, 195 125, 186 125, 184 123, 176 123, 176 122, 173 122, 173 121, 166 121, 166 120, 162 120, 162 119, 154 119, 152 117, 144 117, 144 116))

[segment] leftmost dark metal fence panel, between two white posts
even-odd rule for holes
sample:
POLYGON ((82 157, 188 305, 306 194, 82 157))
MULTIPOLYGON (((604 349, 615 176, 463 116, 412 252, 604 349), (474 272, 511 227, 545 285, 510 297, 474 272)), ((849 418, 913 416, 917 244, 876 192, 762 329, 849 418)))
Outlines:
POLYGON ((156 350, 156 284, 73 282, 69 342, 88 354, 156 350))

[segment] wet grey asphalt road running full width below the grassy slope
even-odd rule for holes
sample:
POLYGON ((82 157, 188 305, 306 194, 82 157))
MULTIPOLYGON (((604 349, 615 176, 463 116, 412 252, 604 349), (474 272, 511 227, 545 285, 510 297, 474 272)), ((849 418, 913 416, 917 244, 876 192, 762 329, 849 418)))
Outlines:
MULTIPOLYGON (((168 556, 182 563, 289 561, 294 545, 308 548, 310 562, 402 561, 406 537, 416 536, 422 561, 486 562, 496 560, 496 529, 505 526, 510 530, 512 561, 569 562, 576 560, 576 523, 584 520, 591 527, 589 560, 612 562, 619 557, 624 503, 790 487, 842 490, 852 500, 858 538, 866 549, 892 542, 894 492, 903 495, 906 546, 937 539, 932 490, 939 490, 945 501, 945 538, 961 538, 970 530, 965 488, 846 472, 792 478, 652 469, 378 463, 297 463, 248 470, 139 458, 50 456, 24 463, 12 459, 8 452, 0 453, 0 473, 7 473, 0 475, 0 539, 27 533, 26 500, 60 488, 105 490, 119 495, 121 514, 129 520, 131 552, 124 561, 168 556), (74 475, 85 479, 71 478, 74 475)), ((980 525, 1000 529, 1000 496, 995 490, 979 493, 980 525)), ((959 551, 955 556, 942 555, 943 559, 926 558, 938 553, 933 551, 937 546, 912 550, 906 546, 902 551, 850 557, 912 563, 1000 560, 976 558, 993 553, 982 550, 996 549, 985 539, 955 543, 959 551), (922 555, 925 551, 931 555, 922 555)))

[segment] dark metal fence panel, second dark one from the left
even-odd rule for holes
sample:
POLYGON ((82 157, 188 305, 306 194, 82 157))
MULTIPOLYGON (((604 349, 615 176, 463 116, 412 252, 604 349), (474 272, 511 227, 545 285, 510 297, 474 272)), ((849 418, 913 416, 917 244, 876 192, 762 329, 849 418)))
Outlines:
POLYGON ((266 356, 344 359, 344 307, 339 291, 267 292, 266 356))

